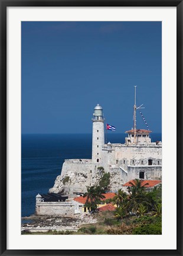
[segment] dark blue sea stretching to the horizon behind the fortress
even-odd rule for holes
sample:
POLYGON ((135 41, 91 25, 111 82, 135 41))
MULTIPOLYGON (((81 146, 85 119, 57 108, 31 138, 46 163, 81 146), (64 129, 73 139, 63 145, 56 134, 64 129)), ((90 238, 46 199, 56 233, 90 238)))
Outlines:
MULTIPOLYGON (((125 134, 107 133, 107 142, 124 143, 125 134)), ((152 141, 161 140, 153 133, 152 141)), ((92 134, 22 135, 21 215, 35 211, 35 196, 47 193, 60 175, 64 159, 91 158, 92 134)))

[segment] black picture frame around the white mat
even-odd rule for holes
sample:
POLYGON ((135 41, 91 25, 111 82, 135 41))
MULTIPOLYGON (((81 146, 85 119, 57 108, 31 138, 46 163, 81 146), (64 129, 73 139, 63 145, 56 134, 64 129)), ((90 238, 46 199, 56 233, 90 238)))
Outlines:
POLYGON ((179 0, 0 0, 1 17, 1 255, 183 255, 182 253, 182 14, 179 0), (177 7, 177 249, 175 250, 14 250, 6 249, 6 8, 7 7, 177 7))

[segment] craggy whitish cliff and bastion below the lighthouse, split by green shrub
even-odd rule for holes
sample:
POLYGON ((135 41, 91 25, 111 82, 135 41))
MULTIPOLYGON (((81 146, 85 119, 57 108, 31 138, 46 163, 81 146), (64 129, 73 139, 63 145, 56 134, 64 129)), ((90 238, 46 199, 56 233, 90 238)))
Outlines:
MULTIPOLYGON (((70 197, 76 193, 85 193, 87 186, 99 185, 104 168, 90 161, 66 160, 61 175, 58 175, 49 193, 64 193, 70 197)), ((126 174, 125 174, 126 175, 126 174)), ((119 168, 110 169, 110 190, 117 191, 122 187, 124 179, 119 168)))

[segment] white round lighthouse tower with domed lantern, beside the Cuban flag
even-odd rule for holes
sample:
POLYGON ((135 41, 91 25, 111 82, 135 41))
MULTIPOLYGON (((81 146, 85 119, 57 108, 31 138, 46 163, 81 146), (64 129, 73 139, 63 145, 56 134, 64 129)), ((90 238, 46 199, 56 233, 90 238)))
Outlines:
POLYGON ((103 109, 97 104, 93 113, 92 161, 100 162, 102 146, 104 146, 104 117, 103 109))

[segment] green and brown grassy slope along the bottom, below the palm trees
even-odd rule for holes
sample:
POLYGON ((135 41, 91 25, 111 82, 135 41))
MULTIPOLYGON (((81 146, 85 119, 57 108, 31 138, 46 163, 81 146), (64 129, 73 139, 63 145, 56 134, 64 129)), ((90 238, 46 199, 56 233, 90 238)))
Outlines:
MULTIPOLYGON (((114 212, 94 213, 97 223, 81 225, 79 231, 28 233, 31 235, 161 235, 161 216, 131 217, 126 223, 116 219, 114 212)), ((27 233, 25 233, 27 234, 27 233)))

